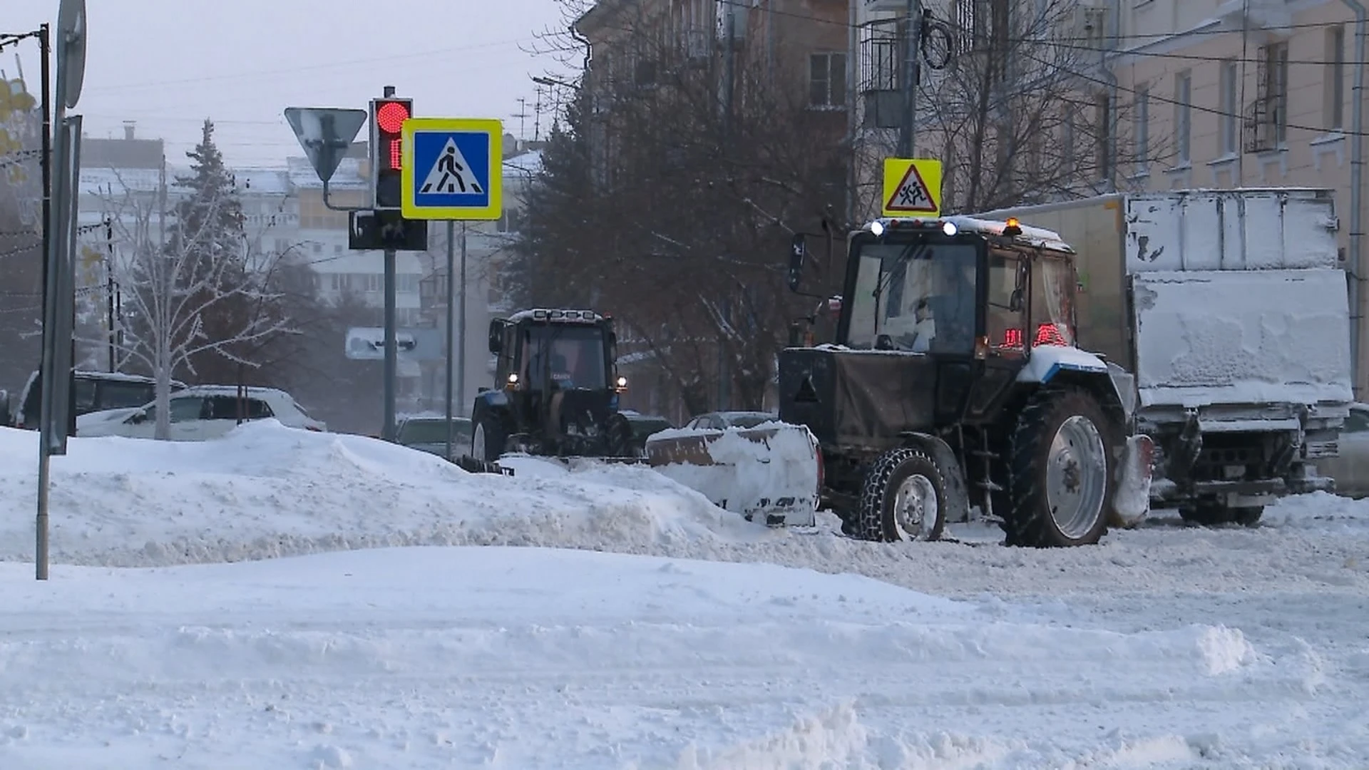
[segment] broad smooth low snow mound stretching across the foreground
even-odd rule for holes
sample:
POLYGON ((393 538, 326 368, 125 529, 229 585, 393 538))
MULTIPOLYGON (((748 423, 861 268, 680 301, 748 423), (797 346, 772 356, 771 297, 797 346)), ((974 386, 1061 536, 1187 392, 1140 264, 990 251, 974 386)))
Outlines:
POLYGON ((7 767, 1369 755, 1365 688, 1316 699, 1298 649, 994 619, 854 575, 545 548, 29 575, 0 564, 0 660, 25 682, 0 688, 7 767))

